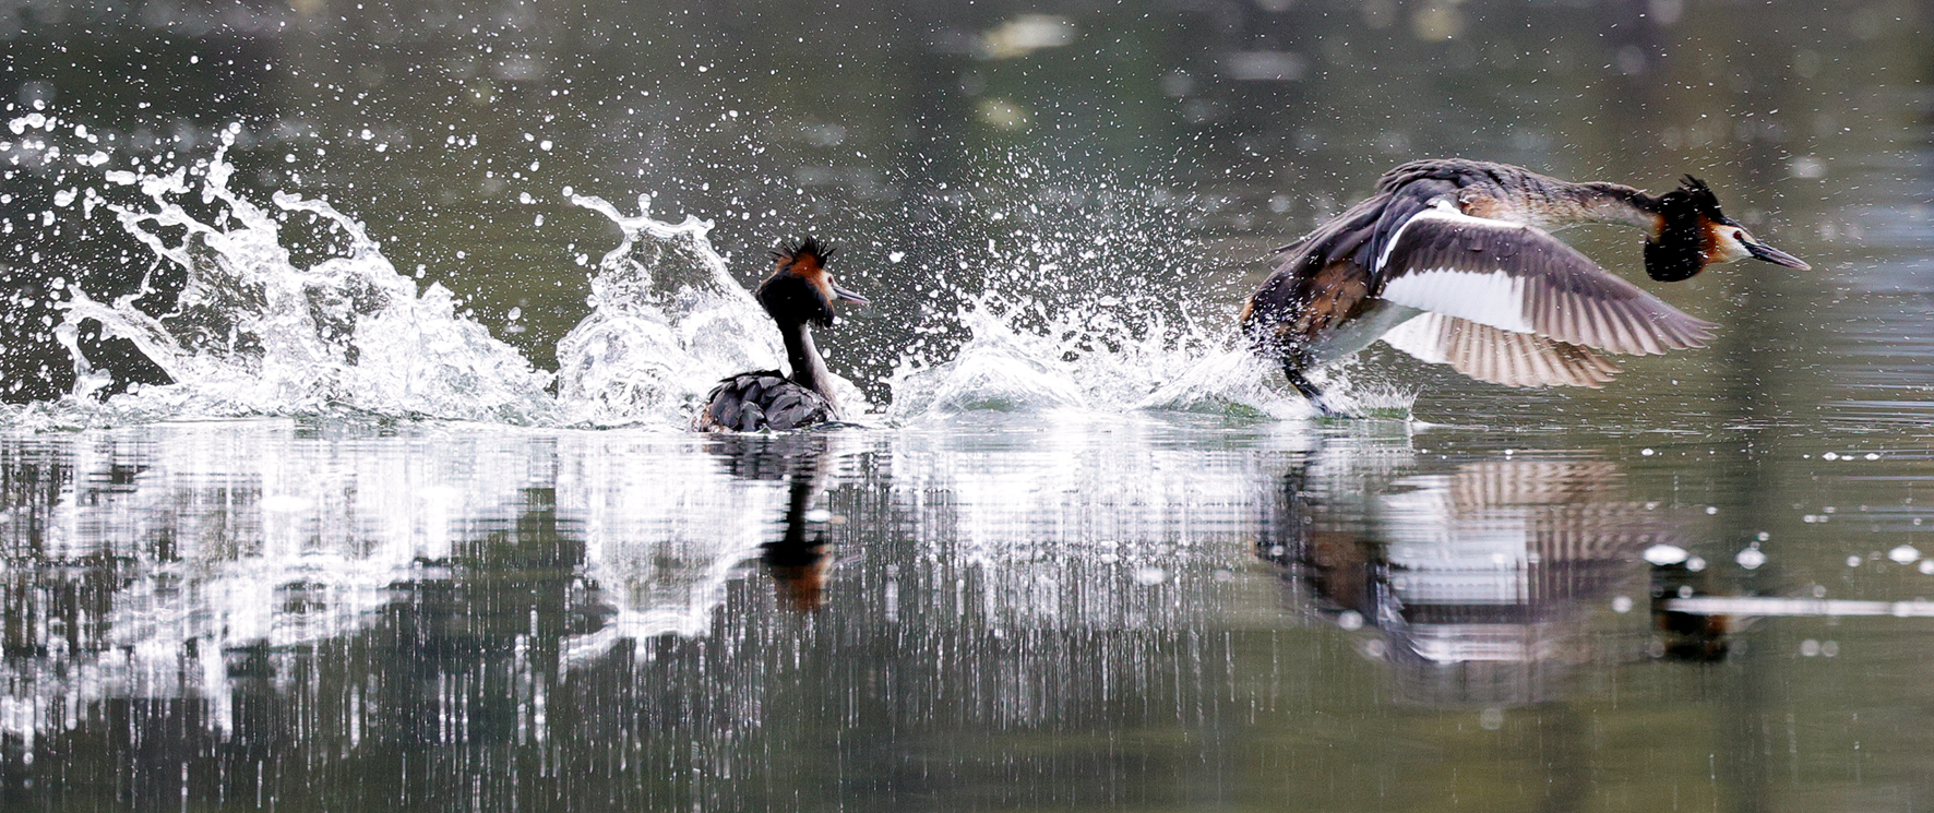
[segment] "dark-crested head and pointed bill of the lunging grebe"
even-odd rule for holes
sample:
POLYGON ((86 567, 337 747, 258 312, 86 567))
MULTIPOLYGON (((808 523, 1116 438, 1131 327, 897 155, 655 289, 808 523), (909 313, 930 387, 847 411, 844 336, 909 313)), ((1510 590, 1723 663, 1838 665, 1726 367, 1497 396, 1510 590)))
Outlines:
POLYGON ((1677 283, 1706 271, 1706 265, 1735 259, 1764 259, 1789 269, 1808 269, 1799 257, 1768 246, 1719 211, 1719 196, 1704 180, 1686 176, 1677 190, 1657 197, 1659 234, 1646 240, 1646 273, 1659 283, 1677 283))

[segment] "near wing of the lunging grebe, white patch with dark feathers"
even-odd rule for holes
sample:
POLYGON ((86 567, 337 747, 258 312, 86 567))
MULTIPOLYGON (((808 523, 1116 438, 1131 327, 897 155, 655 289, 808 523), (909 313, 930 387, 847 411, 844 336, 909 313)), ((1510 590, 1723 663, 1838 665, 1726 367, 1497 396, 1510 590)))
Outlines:
POLYGON ((1717 327, 1539 228, 1470 217, 1449 203, 1412 215, 1377 257, 1375 275, 1379 296, 1402 306, 1609 352, 1704 346, 1717 327))

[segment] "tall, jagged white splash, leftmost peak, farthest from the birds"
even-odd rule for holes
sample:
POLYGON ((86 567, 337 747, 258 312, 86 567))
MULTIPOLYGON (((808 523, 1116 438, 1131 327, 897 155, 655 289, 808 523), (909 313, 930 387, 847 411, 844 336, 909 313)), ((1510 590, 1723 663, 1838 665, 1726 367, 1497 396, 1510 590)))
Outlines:
POLYGON ((122 412, 350 408, 509 424, 549 420, 549 374, 458 316, 441 285, 418 292, 360 223, 329 203, 278 192, 273 199, 282 217, 313 215, 323 240, 340 236, 348 244, 338 256, 296 267, 280 240, 280 219, 228 188, 234 166, 224 157, 238 132, 224 134, 222 147, 195 166, 193 178, 188 168, 168 176, 106 174, 112 184, 139 188, 149 205, 103 205, 157 257, 186 273, 186 286, 159 317, 133 306, 149 285, 114 302, 72 292, 58 335, 75 358, 75 403, 106 383, 75 341, 77 325, 95 319, 104 335, 132 341, 176 381, 116 397, 122 412), (217 211, 207 221, 180 203, 193 192, 217 211))

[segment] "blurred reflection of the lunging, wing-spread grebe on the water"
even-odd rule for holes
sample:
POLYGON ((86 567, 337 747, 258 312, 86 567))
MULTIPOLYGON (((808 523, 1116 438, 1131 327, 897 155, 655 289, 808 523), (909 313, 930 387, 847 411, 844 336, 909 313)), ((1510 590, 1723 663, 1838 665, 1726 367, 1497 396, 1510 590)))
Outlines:
POLYGON ((1615 465, 1592 459, 1418 472, 1317 453, 1284 474, 1257 556, 1282 569, 1292 606, 1373 629, 1362 647, 1391 664, 1400 697, 1541 703, 1572 666, 1688 652, 1659 652, 1623 616, 1650 592, 1642 554, 1685 542, 1619 482, 1615 465))

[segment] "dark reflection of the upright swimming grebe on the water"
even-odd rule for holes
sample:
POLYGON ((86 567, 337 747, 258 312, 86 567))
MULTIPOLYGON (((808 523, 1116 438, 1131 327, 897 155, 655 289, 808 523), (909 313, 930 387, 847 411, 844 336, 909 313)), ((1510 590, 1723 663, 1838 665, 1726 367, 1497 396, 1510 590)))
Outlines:
POLYGON ((779 604, 797 612, 820 610, 826 573, 834 565, 826 530, 835 517, 814 507, 826 490, 828 443, 830 436, 820 432, 721 436, 712 443, 712 453, 725 459, 731 476, 789 482, 785 532, 760 546, 760 563, 777 588, 779 604))

